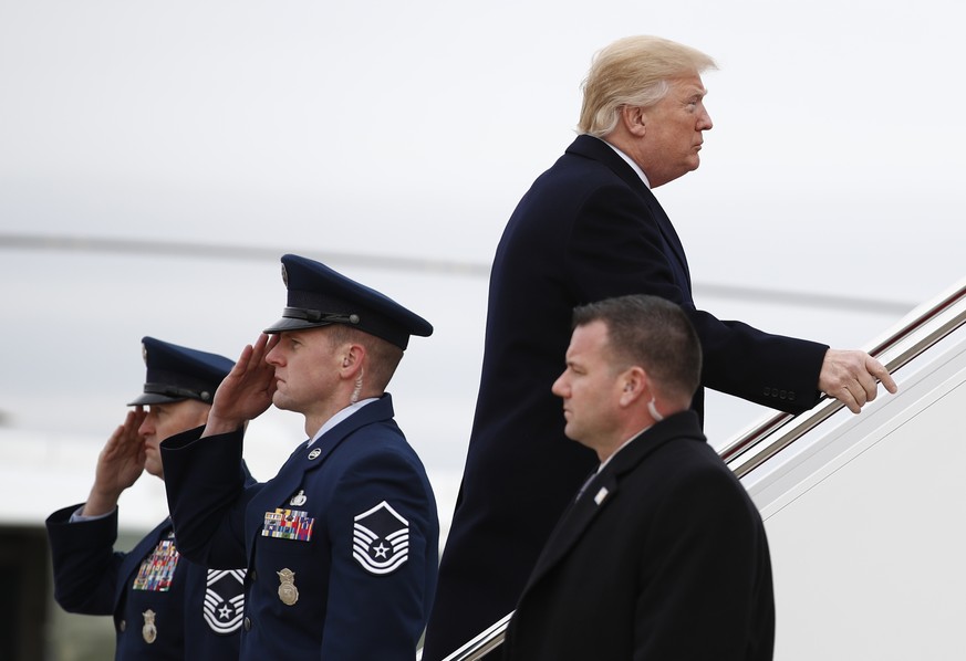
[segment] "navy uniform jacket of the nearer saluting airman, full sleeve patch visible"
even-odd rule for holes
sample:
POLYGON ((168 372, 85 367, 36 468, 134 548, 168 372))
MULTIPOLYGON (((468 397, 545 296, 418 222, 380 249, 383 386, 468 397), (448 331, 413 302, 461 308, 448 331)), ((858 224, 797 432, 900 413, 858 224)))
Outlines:
POLYGON ((412 661, 436 587, 439 524, 391 397, 248 489, 242 432, 201 431, 162 443, 165 486, 187 557, 249 568, 240 659, 412 661))

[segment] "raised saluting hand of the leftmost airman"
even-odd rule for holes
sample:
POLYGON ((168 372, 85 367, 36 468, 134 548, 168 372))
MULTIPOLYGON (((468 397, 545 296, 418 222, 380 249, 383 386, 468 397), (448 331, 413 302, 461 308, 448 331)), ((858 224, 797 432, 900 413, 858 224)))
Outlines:
POLYGON ((125 489, 137 482, 144 472, 144 437, 138 433, 147 413, 144 407, 127 412, 97 455, 94 486, 84 504, 85 516, 107 514, 117 506, 125 489))

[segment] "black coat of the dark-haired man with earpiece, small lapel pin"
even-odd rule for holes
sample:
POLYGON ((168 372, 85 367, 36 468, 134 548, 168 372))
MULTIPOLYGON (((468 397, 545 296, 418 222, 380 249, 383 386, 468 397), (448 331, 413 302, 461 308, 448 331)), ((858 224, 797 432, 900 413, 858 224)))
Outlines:
POLYGON ((563 515, 510 621, 507 661, 766 661, 761 517, 692 411, 621 450, 563 515))

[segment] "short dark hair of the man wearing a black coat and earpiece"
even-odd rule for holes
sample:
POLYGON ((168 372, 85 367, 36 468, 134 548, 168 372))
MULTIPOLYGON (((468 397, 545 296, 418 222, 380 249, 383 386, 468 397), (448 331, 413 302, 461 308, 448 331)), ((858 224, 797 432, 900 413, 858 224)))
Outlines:
POLYGON ((573 311, 573 326, 603 322, 615 369, 640 366, 665 396, 690 402, 700 384, 702 347, 679 305, 645 294, 605 298, 573 311))

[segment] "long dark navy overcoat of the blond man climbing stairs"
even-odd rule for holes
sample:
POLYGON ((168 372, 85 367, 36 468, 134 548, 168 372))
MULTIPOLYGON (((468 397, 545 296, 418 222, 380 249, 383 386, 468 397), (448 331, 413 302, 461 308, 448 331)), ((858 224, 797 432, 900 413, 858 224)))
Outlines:
MULTIPOLYGON (((789 412, 818 402, 828 346, 696 308, 684 249, 654 195, 610 146, 578 137, 520 200, 494 260, 476 415, 425 661, 512 610, 594 465, 564 437, 550 387, 563 371, 573 307, 624 294, 684 307, 700 338, 704 386, 789 412)), ((702 405, 699 390, 694 408, 702 405)))

